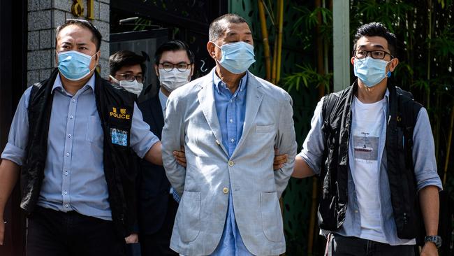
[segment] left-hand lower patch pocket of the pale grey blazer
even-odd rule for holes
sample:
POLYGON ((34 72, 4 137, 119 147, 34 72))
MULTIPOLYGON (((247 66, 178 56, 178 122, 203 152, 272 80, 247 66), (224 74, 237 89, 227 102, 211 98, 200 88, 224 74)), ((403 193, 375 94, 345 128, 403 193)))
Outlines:
POLYGON ((177 215, 180 237, 184 242, 196 240, 200 233, 200 192, 184 191, 177 215))

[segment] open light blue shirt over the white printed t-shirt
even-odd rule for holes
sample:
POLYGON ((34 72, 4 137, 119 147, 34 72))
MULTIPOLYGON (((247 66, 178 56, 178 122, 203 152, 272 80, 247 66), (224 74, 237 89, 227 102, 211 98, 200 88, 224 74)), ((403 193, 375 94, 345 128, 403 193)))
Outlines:
MULTIPOLYGON (((386 90, 386 108, 383 110, 383 115, 388 117, 389 115, 389 91, 386 90)), ((300 157, 305 159, 305 162, 311 167, 316 174, 319 174, 322 167, 322 158, 324 150, 324 136, 321 131, 323 125, 323 117, 321 109, 323 106, 323 99, 318 102, 314 111, 314 117, 311 121, 311 130, 307 134, 305 142, 302 144, 302 150, 300 157)), ((379 119, 380 120, 380 119, 379 119)), ((397 237, 397 230, 395 226, 395 220, 393 218, 393 205, 391 204, 390 185, 388 180, 388 161, 386 155, 386 120, 388 118, 381 118, 383 122, 383 130, 381 131, 380 143, 379 143, 379 155, 378 162, 379 168, 379 204, 381 208, 381 232, 385 235, 386 242, 391 246, 409 245, 415 244, 415 240, 411 239, 400 239, 397 237)), ((350 146, 353 143, 350 143, 350 146)), ((349 148, 350 162, 353 155, 352 148, 349 148)), ((441 180, 437 173, 437 162, 435 161, 434 155, 434 139, 432 136, 432 129, 430 128, 430 122, 425 108, 421 108, 418 113, 418 119, 413 129, 413 164, 417 183, 417 189, 420 190, 423 187, 434 185, 442 189, 441 180)), ((349 205, 346 208, 345 221, 342 227, 336 233, 342 236, 356 236, 360 237, 361 234, 361 213, 359 211, 359 202, 357 198, 357 191, 355 189, 355 183, 351 173, 355 170, 352 169, 352 165, 349 166, 348 180, 349 184, 347 190, 349 205)), ((367 183, 367 180, 364 180, 367 183)), ((328 234, 328 231, 321 231, 322 234, 328 234)))

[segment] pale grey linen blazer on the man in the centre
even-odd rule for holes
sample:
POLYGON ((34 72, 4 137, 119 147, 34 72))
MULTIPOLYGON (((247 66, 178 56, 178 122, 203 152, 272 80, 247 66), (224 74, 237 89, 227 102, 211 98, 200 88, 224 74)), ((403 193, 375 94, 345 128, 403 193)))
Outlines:
POLYGON ((213 72, 178 88, 167 101, 163 164, 168 180, 182 194, 170 248, 188 256, 213 253, 232 193, 247 249, 254 255, 279 255, 286 248, 279 197, 297 150, 292 99, 248 72, 243 133, 229 158, 214 104, 213 72), (186 150, 186 169, 173 157, 180 145, 186 150), (272 166, 274 148, 288 154, 288 162, 277 171, 272 166))

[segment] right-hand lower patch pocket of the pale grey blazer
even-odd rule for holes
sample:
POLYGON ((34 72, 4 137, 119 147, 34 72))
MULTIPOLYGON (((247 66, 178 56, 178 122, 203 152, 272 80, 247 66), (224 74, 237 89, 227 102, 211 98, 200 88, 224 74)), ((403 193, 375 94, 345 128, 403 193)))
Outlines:
POLYGON ((265 237, 273 242, 282 241, 284 231, 277 192, 262 192, 260 198, 260 208, 262 214, 263 233, 265 234, 265 237))

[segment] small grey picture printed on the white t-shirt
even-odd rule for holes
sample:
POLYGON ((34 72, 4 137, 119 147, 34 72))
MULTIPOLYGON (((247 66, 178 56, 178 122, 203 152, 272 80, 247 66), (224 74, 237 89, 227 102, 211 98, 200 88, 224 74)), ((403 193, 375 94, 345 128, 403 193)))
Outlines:
POLYGON ((355 159, 376 161, 379 156, 379 138, 369 136, 369 132, 360 131, 363 136, 353 135, 355 159))

